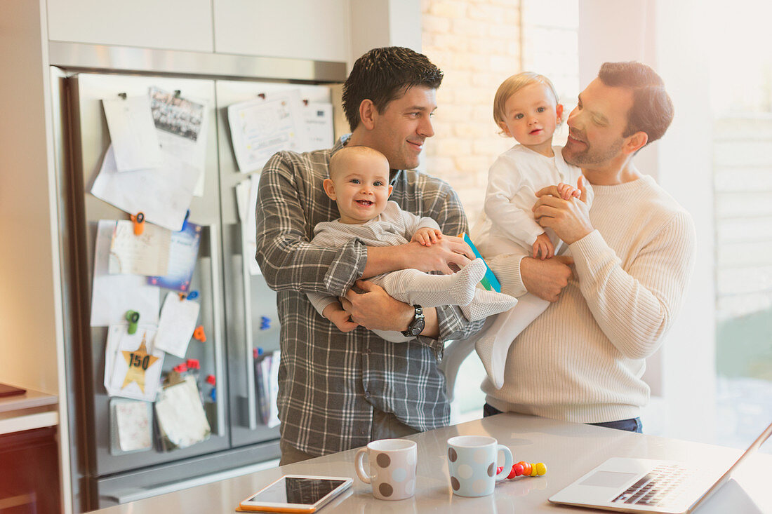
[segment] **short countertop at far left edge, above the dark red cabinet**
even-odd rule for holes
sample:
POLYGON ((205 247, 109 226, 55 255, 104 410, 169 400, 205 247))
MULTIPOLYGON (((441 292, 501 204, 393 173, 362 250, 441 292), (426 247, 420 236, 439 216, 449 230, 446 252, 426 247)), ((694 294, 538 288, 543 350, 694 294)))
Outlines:
POLYGON ((25 394, 0 398, 0 435, 59 424, 59 397, 27 388, 25 394))

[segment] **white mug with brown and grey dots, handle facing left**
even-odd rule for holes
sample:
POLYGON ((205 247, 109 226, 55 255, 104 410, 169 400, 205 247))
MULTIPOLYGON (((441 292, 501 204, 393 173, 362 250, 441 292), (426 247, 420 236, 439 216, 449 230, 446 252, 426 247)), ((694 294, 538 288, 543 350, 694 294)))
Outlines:
POLYGON ((399 500, 415 493, 415 465, 418 447, 407 439, 379 439, 360 448, 354 457, 357 476, 365 484, 372 484, 377 499, 399 500), (369 472, 364 468, 367 455, 369 472))

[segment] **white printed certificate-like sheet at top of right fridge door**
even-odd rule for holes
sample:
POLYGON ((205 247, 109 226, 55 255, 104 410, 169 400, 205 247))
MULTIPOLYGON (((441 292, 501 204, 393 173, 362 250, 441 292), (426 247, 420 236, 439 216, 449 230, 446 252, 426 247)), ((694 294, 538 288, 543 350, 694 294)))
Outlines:
POLYGON ((261 170, 279 150, 310 150, 300 90, 266 93, 266 98, 228 107, 231 142, 239 171, 261 170))

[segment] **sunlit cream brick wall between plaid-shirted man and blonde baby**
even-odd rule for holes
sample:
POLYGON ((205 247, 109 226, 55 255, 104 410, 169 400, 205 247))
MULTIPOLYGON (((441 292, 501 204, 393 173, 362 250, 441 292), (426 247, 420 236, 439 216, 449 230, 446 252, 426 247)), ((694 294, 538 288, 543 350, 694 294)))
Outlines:
POLYGON ((473 222, 488 167, 512 140, 497 134, 493 95, 520 71, 518 0, 423 0, 423 52, 445 72, 426 171, 459 192, 473 222))

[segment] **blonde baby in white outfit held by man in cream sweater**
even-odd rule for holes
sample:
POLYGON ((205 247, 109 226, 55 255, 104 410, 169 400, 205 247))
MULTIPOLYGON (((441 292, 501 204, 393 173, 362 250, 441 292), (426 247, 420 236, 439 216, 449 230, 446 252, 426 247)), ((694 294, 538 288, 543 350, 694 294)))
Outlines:
MULTIPOLYGON (((555 88, 546 76, 523 72, 506 79, 493 100, 493 119, 515 146, 499 155, 488 172, 485 212, 472 235, 488 262, 498 255, 527 252, 534 259, 566 255, 567 246, 554 233, 533 218, 533 204, 541 188, 558 185, 564 200, 580 197, 576 184, 593 198, 590 184, 581 169, 563 160, 560 147, 552 146, 555 129, 562 121, 563 106, 557 102, 555 88)), ((547 300, 530 293, 519 303, 496 316, 492 325, 477 338, 475 350, 491 382, 500 388, 504 381, 506 354, 515 337, 537 318, 547 300)), ((470 350, 471 351, 471 350, 470 350)))

